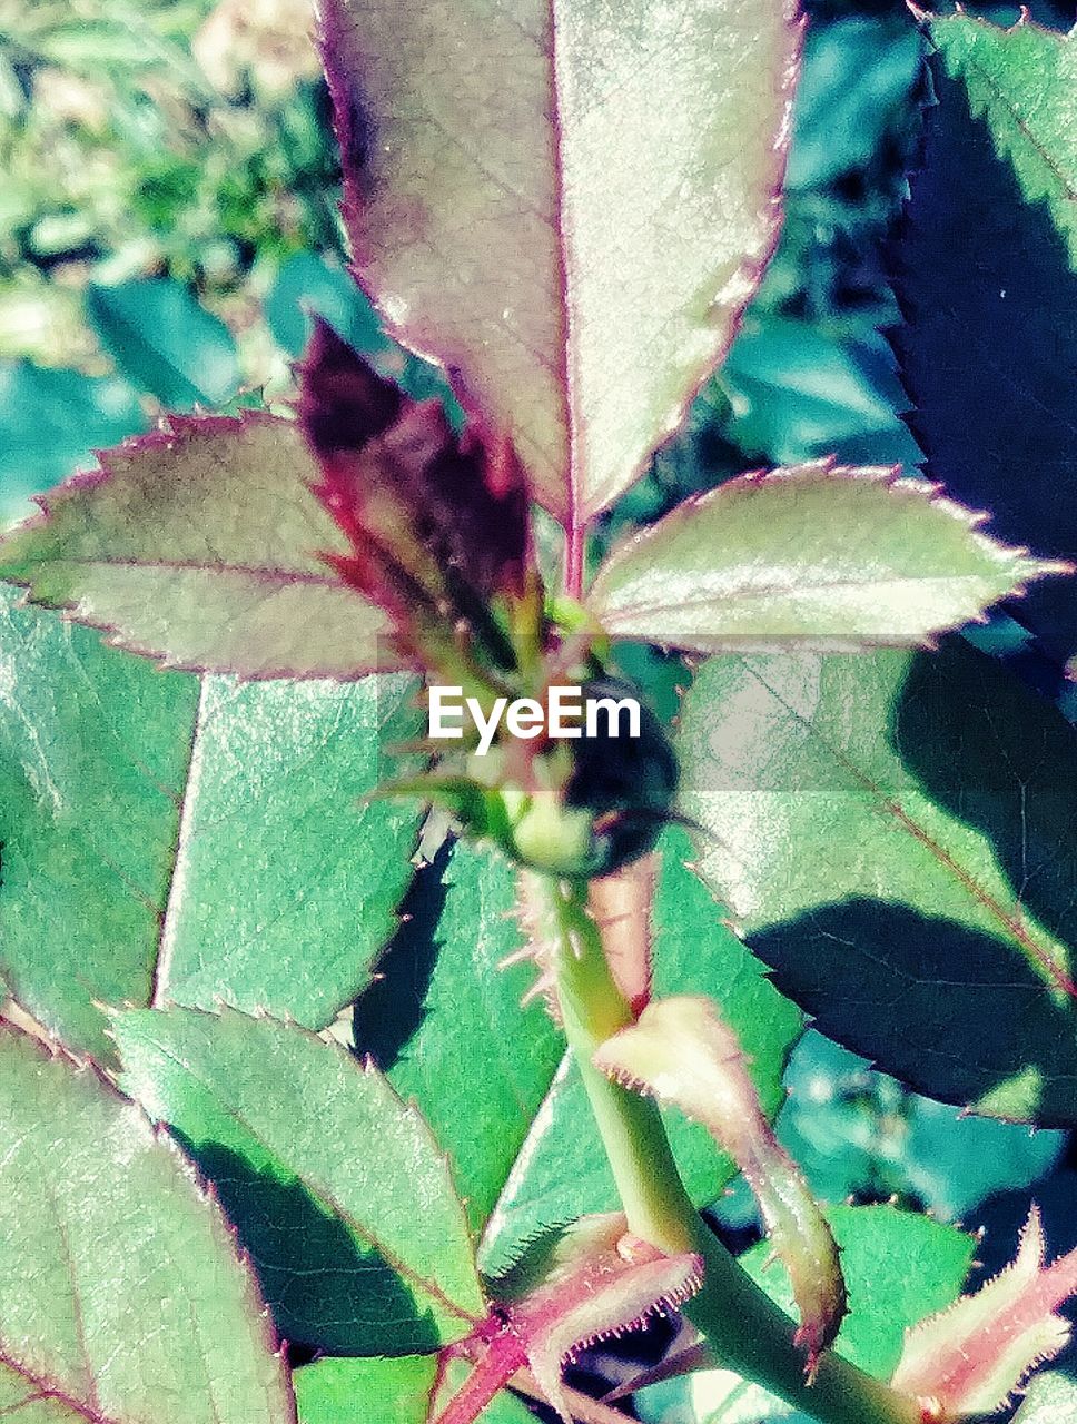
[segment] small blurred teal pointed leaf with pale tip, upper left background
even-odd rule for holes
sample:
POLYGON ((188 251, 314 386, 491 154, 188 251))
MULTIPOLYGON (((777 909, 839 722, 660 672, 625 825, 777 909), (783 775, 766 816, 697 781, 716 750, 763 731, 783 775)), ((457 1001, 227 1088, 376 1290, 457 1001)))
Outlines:
POLYGON ((235 342, 182 282, 134 278, 91 283, 90 325, 120 373, 170 410, 224 404, 239 386, 235 342))

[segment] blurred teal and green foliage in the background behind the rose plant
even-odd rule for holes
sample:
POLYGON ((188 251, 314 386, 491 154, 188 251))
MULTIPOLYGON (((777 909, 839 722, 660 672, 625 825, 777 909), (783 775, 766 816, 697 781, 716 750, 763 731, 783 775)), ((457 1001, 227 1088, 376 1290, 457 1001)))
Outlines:
MULTIPOLYGON (((808 10, 779 249, 724 370, 603 538, 758 464, 919 459, 885 244, 916 155, 922 40, 903 3, 808 10)), ((1073 23, 1049 0, 1033 14, 1073 23)), ((308 0, 0 0, 0 523, 164 409, 279 399, 309 309, 415 394, 439 389, 346 275, 311 27, 308 0)), ((815 1032, 788 1081, 781 1132, 825 1199, 997 1222, 1009 1249, 1039 1183, 1049 1237, 1073 1243, 1066 1135, 960 1119, 815 1032)), ((737 1190, 715 1210, 749 1239, 737 1190)))

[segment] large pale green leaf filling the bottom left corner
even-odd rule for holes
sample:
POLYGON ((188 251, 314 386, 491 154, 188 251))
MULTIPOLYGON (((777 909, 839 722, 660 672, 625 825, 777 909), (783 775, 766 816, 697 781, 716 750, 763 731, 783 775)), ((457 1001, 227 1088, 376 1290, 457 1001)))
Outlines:
POLYGON ((34 1424, 286 1424, 228 1222, 93 1071, 0 1027, 0 1410, 34 1424))

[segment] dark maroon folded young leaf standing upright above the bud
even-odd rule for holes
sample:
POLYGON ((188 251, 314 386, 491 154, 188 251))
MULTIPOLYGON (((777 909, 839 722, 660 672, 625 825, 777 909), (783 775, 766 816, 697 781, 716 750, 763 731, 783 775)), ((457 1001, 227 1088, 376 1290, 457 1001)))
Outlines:
POLYGON ((484 441, 477 427, 457 437, 439 402, 409 400, 321 320, 299 423, 321 467, 316 493, 352 547, 338 565, 369 598, 392 607, 386 561, 435 607, 463 602, 464 617, 523 595, 527 490, 504 440, 484 441))

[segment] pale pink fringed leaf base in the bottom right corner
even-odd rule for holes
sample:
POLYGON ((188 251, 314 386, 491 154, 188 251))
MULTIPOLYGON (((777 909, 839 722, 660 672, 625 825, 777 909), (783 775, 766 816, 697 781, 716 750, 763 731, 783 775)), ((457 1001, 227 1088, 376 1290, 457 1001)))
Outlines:
POLYGON ((929 1424, 999 1413, 1030 1371, 1067 1344, 1070 1321, 1056 1312, 1077 1294, 1077 1252, 1051 1266, 1043 1260, 1033 1208, 1013 1265, 907 1331, 892 1383, 922 1403, 929 1424))

